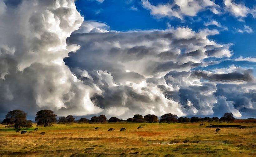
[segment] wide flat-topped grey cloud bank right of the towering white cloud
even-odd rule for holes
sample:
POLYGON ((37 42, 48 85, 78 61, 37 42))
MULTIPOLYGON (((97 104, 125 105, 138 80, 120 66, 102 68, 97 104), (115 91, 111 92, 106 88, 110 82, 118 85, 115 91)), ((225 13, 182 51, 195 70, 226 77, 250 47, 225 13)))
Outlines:
MULTIPOLYGON (((231 56, 230 44, 207 39, 209 34, 218 34, 216 30, 194 32, 179 27, 139 32, 77 31, 80 33, 71 34, 67 43, 80 49, 70 52, 63 61, 90 87, 91 101, 104 113, 120 108, 156 115, 215 115, 224 102, 214 95, 217 84, 235 86, 254 81, 252 71, 241 68, 222 73, 192 70, 208 64, 205 58, 231 56), (81 73, 88 74, 81 78, 81 73)), ((234 107, 226 108, 241 116, 234 107)))

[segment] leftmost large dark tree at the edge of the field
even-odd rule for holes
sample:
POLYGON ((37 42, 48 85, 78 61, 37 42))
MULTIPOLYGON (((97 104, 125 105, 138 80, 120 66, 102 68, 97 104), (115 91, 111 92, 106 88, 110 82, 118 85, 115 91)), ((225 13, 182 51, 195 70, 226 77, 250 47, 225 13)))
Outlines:
POLYGON ((14 128, 30 128, 32 127, 32 121, 27 120, 27 113, 22 110, 12 110, 5 116, 2 124, 10 125, 14 124, 14 128))

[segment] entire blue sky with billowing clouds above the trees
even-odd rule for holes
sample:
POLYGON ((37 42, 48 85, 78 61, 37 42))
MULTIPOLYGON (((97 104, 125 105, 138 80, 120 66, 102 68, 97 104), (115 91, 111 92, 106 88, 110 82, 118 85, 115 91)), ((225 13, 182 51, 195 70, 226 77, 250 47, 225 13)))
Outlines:
POLYGON ((256 118, 255 0, 2 0, 0 119, 256 118))

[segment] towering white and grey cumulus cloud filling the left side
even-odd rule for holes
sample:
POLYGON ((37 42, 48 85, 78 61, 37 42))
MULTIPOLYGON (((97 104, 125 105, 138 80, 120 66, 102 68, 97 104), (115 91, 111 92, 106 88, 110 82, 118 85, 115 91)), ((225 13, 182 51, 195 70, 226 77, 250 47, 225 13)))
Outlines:
POLYGON ((83 22, 74 1, 5 0, 0 7, 2 117, 15 109, 30 115, 41 109, 58 115, 99 112, 62 61, 77 48, 66 47, 66 37, 83 22))

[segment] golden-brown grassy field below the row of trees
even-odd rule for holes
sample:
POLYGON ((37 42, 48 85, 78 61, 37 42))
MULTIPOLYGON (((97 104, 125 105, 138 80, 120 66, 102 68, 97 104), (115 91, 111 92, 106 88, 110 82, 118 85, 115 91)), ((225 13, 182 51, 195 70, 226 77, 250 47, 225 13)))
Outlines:
POLYGON ((73 123, 23 128, 0 125, 0 155, 46 156, 256 156, 255 123, 219 123, 246 128, 206 128, 211 123, 73 123), (143 128, 137 129, 142 126, 143 128), (99 130, 94 128, 99 127, 99 130), (115 130, 109 132, 109 128, 115 130), (120 131, 126 128, 126 131, 120 131), (41 132, 46 132, 41 135, 41 132))

